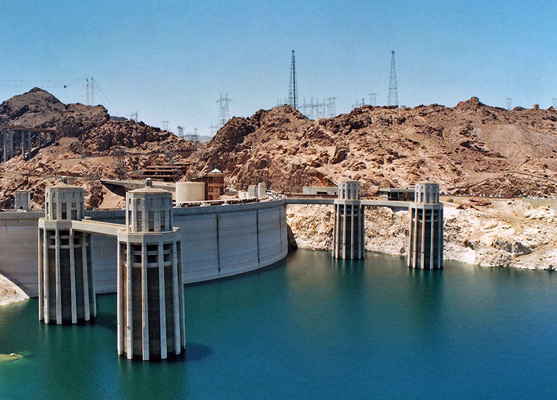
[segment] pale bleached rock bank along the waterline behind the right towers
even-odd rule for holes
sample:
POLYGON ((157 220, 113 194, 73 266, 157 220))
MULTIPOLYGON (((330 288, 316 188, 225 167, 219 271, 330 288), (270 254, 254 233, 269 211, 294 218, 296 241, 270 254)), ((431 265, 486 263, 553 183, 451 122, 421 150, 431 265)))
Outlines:
MULTIPOLYGON (((555 209, 518 199, 471 200, 464 207, 445 203, 445 259, 484 267, 557 268, 555 209)), ((298 247, 331 250, 332 207, 288 206, 286 216, 298 247)), ((369 208, 365 219, 367 251, 407 255, 408 211, 369 208)))

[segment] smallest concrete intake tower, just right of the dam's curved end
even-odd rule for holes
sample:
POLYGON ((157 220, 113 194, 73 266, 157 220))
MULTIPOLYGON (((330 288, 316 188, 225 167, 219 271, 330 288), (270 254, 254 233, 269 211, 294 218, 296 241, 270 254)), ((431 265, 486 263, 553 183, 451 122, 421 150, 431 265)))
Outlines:
POLYGON ((364 207, 361 204, 360 182, 341 182, 334 206, 333 257, 364 258, 364 207))

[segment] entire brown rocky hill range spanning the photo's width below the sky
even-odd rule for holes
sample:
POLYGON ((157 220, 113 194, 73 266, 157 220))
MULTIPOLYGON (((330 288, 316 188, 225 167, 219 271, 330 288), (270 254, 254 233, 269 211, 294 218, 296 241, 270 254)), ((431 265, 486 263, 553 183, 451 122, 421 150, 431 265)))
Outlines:
MULTIPOLYGON (((170 132, 112 119, 102 106, 66 105, 37 88, 0 104, 0 124, 59 133, 32 160, 16 157, 0 166, 0 207, 6 208, 16 189, 31 189, 40 199, 50 177, 77 176, 98 188, 99 177, 184 161, 194 149, 170 132)), ((282 106, 232 118, 185 161, 188 176, 217 165, 238 189, 265 181, 276 191, 300 192, 350 178, 373 195, 379 187, 429 178, 454 194, 555 196, 557 111, 509 111, 471 98, 455 107, 364 106, 312 121, 282 106)), ((102 203, 99 193, 91 198, 97 199, 91 207, 102 203)))

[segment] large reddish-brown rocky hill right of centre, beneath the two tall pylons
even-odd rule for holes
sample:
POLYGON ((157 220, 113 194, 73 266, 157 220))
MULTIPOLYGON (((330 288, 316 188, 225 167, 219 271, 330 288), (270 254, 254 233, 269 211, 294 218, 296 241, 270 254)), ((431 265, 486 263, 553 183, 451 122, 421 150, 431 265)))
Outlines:
POLYGON ((557 111, 508 111, 477 98, 456 107, 364 106, 312 121, 289 106, 232 118, 192 174, 215 164, 228 183, 277 191, 361 180, 365 192, 430 178, 455 194, 557 194, 557 111))

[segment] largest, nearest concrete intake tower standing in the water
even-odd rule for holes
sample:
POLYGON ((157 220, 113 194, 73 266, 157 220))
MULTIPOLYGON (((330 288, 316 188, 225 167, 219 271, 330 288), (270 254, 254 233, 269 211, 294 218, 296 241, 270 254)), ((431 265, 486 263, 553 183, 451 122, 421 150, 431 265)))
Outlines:
POLYGON ((172 194, 143 189, 126 195, 126 229, 118 232, 118 354, 166 359, 185 351, 185 314, 178 228, 172 194))

